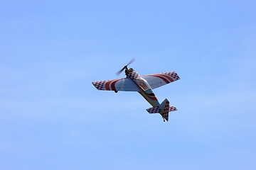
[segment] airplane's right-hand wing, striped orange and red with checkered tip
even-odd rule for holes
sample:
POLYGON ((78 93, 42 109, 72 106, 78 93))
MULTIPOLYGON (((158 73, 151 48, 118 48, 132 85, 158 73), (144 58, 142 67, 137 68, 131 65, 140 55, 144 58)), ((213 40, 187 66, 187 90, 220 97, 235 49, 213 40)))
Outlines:
POLYGON ((152 89, 156 89, 159 86, 164 86, 165 84, 169 84, 173 81, 180 79, 176 72, 165 72, 160 74, 150 74, 142 76, 145 79, 152 89))

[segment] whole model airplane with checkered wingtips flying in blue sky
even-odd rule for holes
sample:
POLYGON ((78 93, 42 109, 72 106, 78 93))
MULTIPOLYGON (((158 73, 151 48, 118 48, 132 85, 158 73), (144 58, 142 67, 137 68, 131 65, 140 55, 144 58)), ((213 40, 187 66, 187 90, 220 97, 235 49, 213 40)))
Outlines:
MULTIPOLYGON (((131 64, 134 60, 129 62, 131 64)), ((173 81, 180 79, 176 72, 165 72, 161 74, 150 74, 140 76, 134 69, 128 69, 128 65, 124 66, 117 74, 120 74, 125 69, 126 78, 113 79, 105 81, 95 81, 92 84, 98 90, 106 91, 138 91, 146 101, 148 101, 152 108, 146 109, 149 113, 160 113, 162 118, 168 121, 169 112, 177 111, 176 107, 169 106, 167 98, 160 104, 154 95, 152 89, 156 89, 159 86, 164 86, 173 81)), ((164 120, 164 121, 165 121, 164 120)))

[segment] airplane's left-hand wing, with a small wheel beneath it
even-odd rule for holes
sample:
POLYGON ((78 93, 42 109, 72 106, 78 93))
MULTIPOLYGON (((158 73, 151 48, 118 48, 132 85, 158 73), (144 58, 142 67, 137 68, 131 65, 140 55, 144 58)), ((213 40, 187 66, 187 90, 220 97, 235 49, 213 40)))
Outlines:
POLYGON ((105 81, 95 81, 92 84, 98 90, 106 91, 141 91, 137 84, 135 84, 131 79, 113 79, 105 81))

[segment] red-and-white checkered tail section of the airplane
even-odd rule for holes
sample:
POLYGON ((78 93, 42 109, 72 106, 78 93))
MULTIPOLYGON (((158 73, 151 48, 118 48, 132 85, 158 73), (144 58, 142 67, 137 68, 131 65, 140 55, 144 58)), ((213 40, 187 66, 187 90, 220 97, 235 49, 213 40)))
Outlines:
POLYGON ((168 121, 169 119, 169 112, 177 111, 177 108, 174 106, 169 106, 169 101, 167 98, 160 104, 160 106, 154 106, 152 108, 146 109, 150 114, 151 113, 160 113, 161 116, 168 121))

